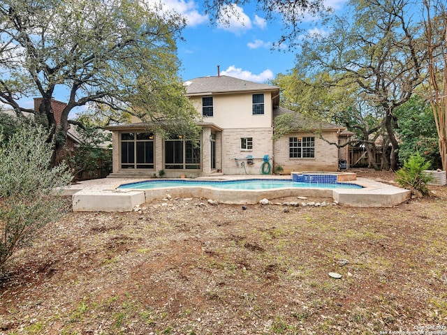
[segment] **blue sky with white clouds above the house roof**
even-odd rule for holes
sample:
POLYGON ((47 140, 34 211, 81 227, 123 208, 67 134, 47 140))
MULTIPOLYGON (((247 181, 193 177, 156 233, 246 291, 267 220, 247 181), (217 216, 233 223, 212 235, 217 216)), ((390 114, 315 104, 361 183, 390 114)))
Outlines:
MULTIPOLYGON (((345 0, 326 0, 326 6, 342 10, 345 0)), ((178 43, 178 57, 182 61, 184 80, 194 77, 221 75, 239 77, 254 82, 273 79, 295 66, 295 53, 287 43, 272 50, 272 43, 281 37, 281 18, 267 22, 263 13, 254 6, 236 7, 239 17, 230 17, 230 24, 210 24, 210 17, 200 7, 200 1, 166 0, 166 8, 186 17, 185 41, 178 43)), ((305 32, 318 29, 315 17, 306 17, 302 23, 305 32)))

